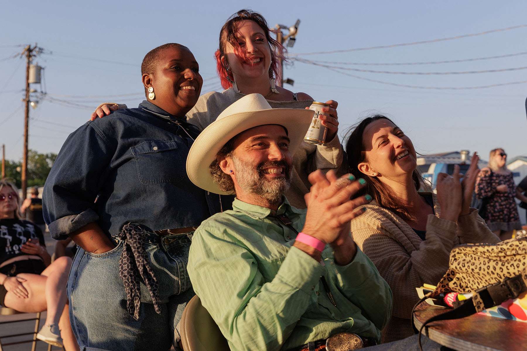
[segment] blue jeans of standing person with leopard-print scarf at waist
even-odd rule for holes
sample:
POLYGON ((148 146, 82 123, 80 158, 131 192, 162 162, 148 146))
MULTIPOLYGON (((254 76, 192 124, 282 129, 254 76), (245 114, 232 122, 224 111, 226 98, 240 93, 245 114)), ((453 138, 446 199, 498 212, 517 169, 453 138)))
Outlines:
POLYGON ((126 292, 119 277, 123 242, 103 254, 82 248, 75 255, 67 283, 70 318, 82 349, 168 350, 177 347, 175 329, 184 306, 192 298, 187 261, 192 233, 145 238, 144 247, 158 280, 161 314, 141 282, 139 320, 126 310, 126 292))

